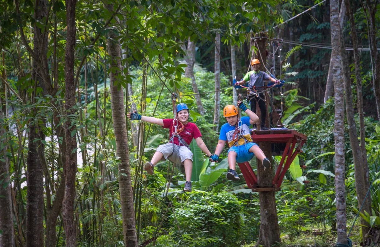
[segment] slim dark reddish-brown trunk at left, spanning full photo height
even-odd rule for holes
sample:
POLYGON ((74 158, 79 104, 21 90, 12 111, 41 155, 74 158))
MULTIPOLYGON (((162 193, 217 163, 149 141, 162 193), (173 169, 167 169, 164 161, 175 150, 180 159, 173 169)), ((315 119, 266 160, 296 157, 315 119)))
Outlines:
POLYGON ((63 225, 66 236, 66 246, 76 246, 76 227, 74 221, 74 198, 75 198, 75 174, 77 170, 77 154, 75 133, 76 111, 75 105, 75 82, 74 82, 74 48, 76 41, 75 27, 76 0, 66 0, 67 21, 67 44, 65 50, 65 110, 67 122, 65 123, 66 149, 65 163, 63 164, 63 176, 65 177, 65 195, 62 204, 63 225))

